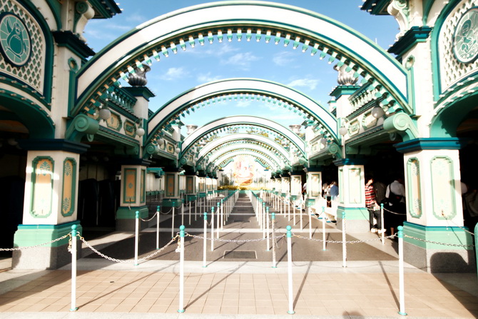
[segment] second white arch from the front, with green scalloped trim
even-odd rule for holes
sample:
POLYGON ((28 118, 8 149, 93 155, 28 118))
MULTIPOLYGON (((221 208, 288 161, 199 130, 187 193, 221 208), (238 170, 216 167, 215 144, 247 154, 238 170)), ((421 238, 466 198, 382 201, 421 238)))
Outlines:
MULTIPOLYGON (((288 108, 291 112, 300 112, 304 119, 313 121, 323 131, 327 131, 332 138, 337 139, 335 116, 305 94, 288 86, 261 79, 225 79, 197 86, 162 106, 148 120, 148 142, 153 141, 154 143, 158 140, 163 129, 180 116, 227 99, 263 101, 288 108)), ((247 119, 245 118, 245 120, 247 119)), ((273 122, 270 123, 270 126, 273 126, 273 122)), ((283 128, 281 126, 280 130, 283 128)), ((288 129, 286 128, 286 130, 288 129)), ((300 147, 299 142, 296 144, 300 147)))

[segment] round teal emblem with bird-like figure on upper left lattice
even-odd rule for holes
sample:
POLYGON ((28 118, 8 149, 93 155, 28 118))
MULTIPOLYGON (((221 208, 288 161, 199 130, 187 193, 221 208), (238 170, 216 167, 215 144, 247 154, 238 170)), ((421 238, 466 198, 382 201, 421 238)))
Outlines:
POLYGON ((0 51, 14 66, 24 66, 31 55, 29 31, 24 21, 11 12, 0 14, 0 51))

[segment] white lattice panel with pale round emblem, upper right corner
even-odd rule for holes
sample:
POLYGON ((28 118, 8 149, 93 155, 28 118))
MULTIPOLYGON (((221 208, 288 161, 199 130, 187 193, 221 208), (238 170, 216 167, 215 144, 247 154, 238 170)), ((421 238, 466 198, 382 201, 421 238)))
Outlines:
POLYGON ((476 6, 478 0, 463 1, 442 25, 438 41, 442 91, 478 69, 476 6))

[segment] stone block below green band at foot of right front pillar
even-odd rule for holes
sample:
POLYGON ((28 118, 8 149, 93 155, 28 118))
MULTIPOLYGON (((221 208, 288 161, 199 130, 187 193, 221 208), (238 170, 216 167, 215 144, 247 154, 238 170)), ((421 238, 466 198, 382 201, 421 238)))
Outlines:
POLYGON ((474 250, 426 249, 407 242, 403 250, 406 263, 427 273, 474 273, 477 268, 474 250))

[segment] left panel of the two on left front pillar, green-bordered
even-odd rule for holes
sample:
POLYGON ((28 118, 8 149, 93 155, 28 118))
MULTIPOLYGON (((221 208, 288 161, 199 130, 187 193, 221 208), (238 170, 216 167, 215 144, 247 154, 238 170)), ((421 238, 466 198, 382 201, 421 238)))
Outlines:
POLYGON ((35 218, 46 218, 51 215, 53 202, 54 161, 51 157, 37 157, 31 166, 30 214, 35 218))

